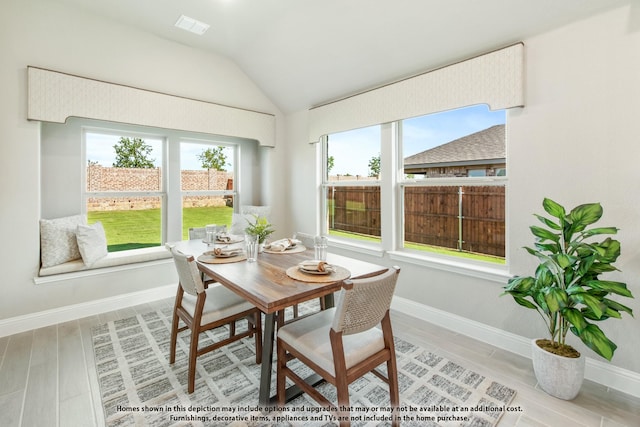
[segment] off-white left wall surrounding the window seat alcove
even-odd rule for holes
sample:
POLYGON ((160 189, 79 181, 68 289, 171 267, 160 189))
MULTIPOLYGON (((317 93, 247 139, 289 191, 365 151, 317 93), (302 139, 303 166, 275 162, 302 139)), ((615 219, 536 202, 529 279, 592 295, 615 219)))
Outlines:
MULTIPOLYGON (((228 59, 59 3, 3 1, 0 56, 0 321, 175 283, 171 264, 56 284, 33 283, 39 266, 41 152, 40 124, 26 120, 28 65, 264 111, 282 120, 277 108, 228 59)), ((253 160, 252 167, 260 173, 271 173, 263 160, 268 150, 261 148, 253 160)), ((81 166, 68 167, 79 173, 81 166)), ((280 196, 254 189, 252 193, 253 203, 262 198, 280 203, 280 196)))

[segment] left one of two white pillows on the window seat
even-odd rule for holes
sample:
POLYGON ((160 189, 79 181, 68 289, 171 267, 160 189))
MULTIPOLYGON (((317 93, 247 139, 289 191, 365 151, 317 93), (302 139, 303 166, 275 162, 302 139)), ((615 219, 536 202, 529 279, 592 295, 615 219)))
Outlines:
POLYGON ((52 267, 80 258, 76 229, 86 224, 84 215, 40 220, 40 258, 42 267, 52 267))

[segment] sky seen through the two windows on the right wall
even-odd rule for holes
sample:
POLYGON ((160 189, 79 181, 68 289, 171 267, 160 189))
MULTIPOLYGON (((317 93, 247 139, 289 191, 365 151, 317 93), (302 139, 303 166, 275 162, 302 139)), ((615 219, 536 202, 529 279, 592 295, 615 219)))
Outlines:
MULTIPOLYGON (((463 136, 505 124, 506 113, 487 105, 460 108, 404 120, 403 156, 408 157, 463 136)), ((380 127, 356 129, 329 136, 331 175, 369 175, 369 160, 380 155, 380 127)))

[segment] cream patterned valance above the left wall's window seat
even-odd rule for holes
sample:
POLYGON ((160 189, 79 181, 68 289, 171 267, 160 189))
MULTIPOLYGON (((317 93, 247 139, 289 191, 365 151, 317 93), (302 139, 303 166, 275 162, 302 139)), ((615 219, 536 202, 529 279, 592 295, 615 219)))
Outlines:
POLYGON ((275 146, 275 116, 28 67, 29 120, 82 117, 226 135, 275 146))

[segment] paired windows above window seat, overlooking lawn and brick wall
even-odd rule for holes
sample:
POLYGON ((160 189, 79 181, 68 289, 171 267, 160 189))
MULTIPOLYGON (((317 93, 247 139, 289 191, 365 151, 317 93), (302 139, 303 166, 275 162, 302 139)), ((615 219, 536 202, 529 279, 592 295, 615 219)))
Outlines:
POLYGON ((160 246, 167 236, 186 239, 190 227, 231 224, 240 142, 117 127, 87 127, 83 137, 87 220, 102 222, 109 252, 160 246), (174 164, 168 153, 174 168, 166 167, 174 164))

